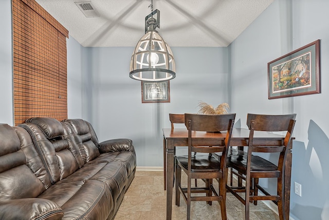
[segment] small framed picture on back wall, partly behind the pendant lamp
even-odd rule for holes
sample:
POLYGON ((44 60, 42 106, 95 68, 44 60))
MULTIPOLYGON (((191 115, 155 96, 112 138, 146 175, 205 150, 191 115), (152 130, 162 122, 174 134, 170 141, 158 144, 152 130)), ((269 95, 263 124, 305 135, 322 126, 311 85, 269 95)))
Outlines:
POLYGON ((170 102, 169 81, 142 81, 142 103, 170 102))

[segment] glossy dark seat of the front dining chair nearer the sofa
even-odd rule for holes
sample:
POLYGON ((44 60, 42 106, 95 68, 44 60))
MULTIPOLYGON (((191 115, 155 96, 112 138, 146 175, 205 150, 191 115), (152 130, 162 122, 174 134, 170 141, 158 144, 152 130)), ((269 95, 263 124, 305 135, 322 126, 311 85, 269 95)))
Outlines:
MULTIPOLYGON (((178 156, 176 157, 178 164, 184 169, 188 169, 188 157, 186 156, 178 156)), ((191 171, 197 172, 198 170, 205 170, 207 172, 218 172, 220 171, 220 161, 218 161, 215 157, 204 155, 204 156, 192 156, 191 157, 191 171)))

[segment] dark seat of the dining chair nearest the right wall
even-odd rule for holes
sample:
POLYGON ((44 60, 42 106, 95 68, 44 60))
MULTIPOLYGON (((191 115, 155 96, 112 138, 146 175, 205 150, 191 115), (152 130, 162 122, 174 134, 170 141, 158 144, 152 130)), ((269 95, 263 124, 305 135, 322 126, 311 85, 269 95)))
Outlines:
MULTIPOLYGON (((237 171, 243 171, 247 169, 247 155, 245 156, 231 156, 227 158, 227 164, 229 167, 237 171)), ((276 171, 278 167, 270 161, 259 157, 251 156, 251 171, 276 171)))

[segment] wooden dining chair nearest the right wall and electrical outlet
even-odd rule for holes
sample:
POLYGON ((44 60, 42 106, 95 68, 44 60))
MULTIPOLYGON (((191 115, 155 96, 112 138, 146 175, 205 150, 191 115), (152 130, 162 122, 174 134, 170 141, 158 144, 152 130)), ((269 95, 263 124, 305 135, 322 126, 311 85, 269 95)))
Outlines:
POLYGON ((278 205, 280 220, 288 219, 285 216, 284 207, 284 166, 286 160, 286 153, 288 144, 291 141, 291 134, 293 133, 296 123, 296 114, 288 115, 259 115, 248 114, 247 126, 249 128, 248 139, 248 154, 245 156, 231 156, 228 158, 227 166, 233 168, 245 180, 245 186, 232 187, 226 185, 226 188, 237 199, 245 205, 245 219, 249 219, 249 205, 253 202, 257 205, 258 200, 272 200, 278 205), (278 145, 268 145, 266 143, 266 135, 263 141, 254 141, 255 133, 271 132, 285 133, 284 141, 279 141, 278 145), (256 153, 253 155, 253 153, 256 153), (264 159, 259 155, 263 153, 278 153, 279 158, 277 164, 264 159), (259 184, 259 178, 277 178, 277 193, 270 194, 259 184), (258 191, 263 195, 259 195, 258 191), (238 193, 244 193, 244 198, 238 193))

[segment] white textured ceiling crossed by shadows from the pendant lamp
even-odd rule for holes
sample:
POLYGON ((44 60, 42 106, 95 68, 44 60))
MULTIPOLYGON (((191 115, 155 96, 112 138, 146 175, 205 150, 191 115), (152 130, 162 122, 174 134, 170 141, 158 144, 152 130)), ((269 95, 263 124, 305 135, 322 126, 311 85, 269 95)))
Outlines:
MULTIPOLYGON (((144 35, 151 0, 91 1, 99 17, 87 18, 83 0, 36 0, 85 47, 135 47, 144 35)), ((226 47, 273 0, 153 0, 162 38, 171 46, 226 47)))

